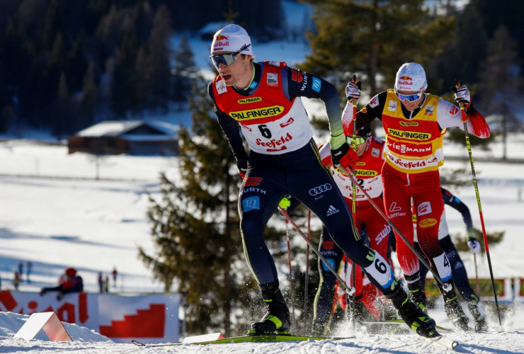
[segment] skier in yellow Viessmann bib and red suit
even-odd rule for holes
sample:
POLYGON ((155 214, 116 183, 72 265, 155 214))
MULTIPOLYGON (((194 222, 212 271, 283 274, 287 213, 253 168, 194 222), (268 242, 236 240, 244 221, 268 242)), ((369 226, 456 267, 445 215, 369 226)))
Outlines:
MULTIPOLYGON (((416 63, 405 63, 397 72, 394 89, 378 93, 358 111, 356 127, 363 127, 375 118, 382 120, 386 135, 385 164, 382 168, 384 205, 387 216, 406 239, 413 244, 411 200, 417 212, 418 242, 439 275, 445 312, 462 330, 469 330, 467 316, 457 300, 452 271, 445 252, 438 242, 438 226, 443 212, 438 167, 444 163, 443 132, 448 127, 463 128, 460 108, 438 96, 426 93, 426 72, 416 63)), ((489 137, 490 130, 482 114, 471 104, 466 86, 455 89, 455 101, 464 104, 467 130, 477 137, 489 137)), ((359 96, 353 83, 346 87, 348 97, 359 96)), ((353 132, 353 107, 343 111, 346 135, 353 132)), ((411 299, 424 303, 420 290, 418 259, 397 235, 397 256, 404 272, 411 299)))

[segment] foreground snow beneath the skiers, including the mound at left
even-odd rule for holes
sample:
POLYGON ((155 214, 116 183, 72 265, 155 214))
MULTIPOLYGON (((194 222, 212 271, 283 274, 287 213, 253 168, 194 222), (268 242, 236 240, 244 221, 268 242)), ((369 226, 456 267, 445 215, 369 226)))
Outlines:
MULTIPOLYGON (((522 309, 516 316, 523 318, 522 309)), ((14 333, 23 325, 28 316, 0 313, 0 352, 1 353, 64 353, 74 351, 79 354, 92 353, 214 353, 214 354, 266 354, 266 353, 443 353, 445 348, 417 336, 414 333, 370 334, 363 329, 346 330, 341 340, 282 342, 282 343, 230 343, 207 346, 182 345, 160 348, 138 348, 131 343, 112 343, 107 338, 89 329, 64 324, 72 342, 50 342, 45 334, 38 339, 25 341, 13 339, 14 333)), ((522 323, 521 323, 522 324, 522 323)), ((524 353, 524 330, 506 327, 493 329, 488 333, 450 333, 447 338, 460 341, 455 351, 460 353, 524 353)))

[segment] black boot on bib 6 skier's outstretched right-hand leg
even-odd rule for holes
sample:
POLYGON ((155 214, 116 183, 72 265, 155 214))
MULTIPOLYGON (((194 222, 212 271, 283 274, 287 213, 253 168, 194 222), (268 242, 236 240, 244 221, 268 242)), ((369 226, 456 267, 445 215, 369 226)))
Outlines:
POLYGON ((404 292, 401 285, 397 284, 395 290, 385 295, 391 299, 393 306, 399 312, 399 316, 410 329, 423 337, 431 338, 435 336, 435 320, 427 314, 424 314, 420 307, 409 301, 408 295, 404 292))

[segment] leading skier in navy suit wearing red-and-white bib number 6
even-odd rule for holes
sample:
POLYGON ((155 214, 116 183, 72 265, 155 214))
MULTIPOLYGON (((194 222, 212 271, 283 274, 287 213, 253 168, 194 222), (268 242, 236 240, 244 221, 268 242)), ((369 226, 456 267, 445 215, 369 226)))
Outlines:
POLYGON ((244 253, 268 309, 261 321, 251 325, 249 334, 290 331, 289 309, 263 231, 280 200, 292 195, 321 219, 336 244, 392 300, 411 329, 421 336, 435 336, 435 321, 409 301, 387 261, 355 232, 351 212, 321 163, 300 97, 320 98, 326 105, 331 156, 338 166, 348 159, 350 148, 335 87, 283 62, 254 62, 251 39, 239 25, 227 25, 215 33, 211 59, 219 75, 208 93, 241 176, 245 173, 239 193, 244 253))

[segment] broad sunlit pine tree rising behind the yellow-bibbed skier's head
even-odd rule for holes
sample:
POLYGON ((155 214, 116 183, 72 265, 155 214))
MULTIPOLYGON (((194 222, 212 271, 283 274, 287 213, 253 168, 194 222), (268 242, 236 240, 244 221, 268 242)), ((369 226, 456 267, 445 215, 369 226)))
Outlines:
POLYGON ((424 0, 308 0, 318 33, 301 66, 346 86, 361 73, 370 95, 392 86, 404 62, 426 64, 452 35, 454 18, 430 18, 424 0), (377 74, 384 76, 382 85, 377 74), (366 85, 367 84, 367 85, 366 85))

